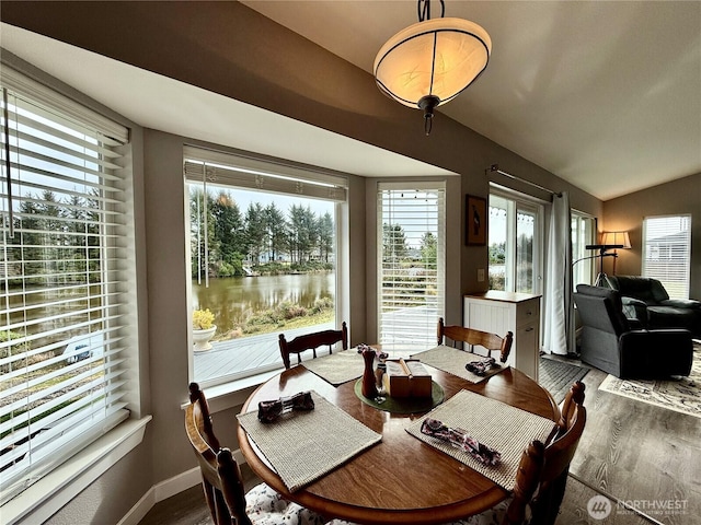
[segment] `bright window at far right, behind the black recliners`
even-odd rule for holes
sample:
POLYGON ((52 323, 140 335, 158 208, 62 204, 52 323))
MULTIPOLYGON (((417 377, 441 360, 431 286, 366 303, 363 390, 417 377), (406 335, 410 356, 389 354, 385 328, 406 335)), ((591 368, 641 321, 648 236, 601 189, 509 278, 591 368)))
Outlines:
POLYGON ((643 276, 659 280, 673 299, 689 299, 691 215, 643 220, 643 276))

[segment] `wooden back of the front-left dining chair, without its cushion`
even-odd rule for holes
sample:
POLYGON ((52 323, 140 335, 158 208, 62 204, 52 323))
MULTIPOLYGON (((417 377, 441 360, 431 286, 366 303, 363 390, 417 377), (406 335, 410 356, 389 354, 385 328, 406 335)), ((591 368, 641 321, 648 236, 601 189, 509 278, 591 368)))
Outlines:
POLYGON ((202 472, 205 500, 215 525, 252 525, 245 514, 241 470, 229 448, 220 448, 214 435, 209 407, 197 383, 189 384, 185 432, 202 472))

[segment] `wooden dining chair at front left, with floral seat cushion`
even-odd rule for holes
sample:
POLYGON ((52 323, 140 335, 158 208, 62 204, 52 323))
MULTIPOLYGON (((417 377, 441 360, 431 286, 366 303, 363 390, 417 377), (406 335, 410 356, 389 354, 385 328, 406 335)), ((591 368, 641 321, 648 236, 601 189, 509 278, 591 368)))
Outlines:
POLYGON ((241 469, 215 436, 209 406, 197 383, 189 384, 185 432, 199 463, 205 500, 215 525, 322 525, 324 518, 284 500, 265 483, 245 493, 241 469))

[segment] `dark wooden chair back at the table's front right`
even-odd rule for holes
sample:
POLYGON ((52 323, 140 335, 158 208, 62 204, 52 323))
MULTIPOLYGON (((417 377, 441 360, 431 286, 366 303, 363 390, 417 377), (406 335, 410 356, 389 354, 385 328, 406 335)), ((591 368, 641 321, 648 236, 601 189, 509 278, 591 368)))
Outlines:
POLYGON ((531 522, 554 525, 565 493, 567 474, 587 420, 584 384, 576 382, 567 394, 560 433, 547 446, 533 441, 524 451, 516 476, 514 499, 504 516, 504 525, 524 523, 530 503, 531 522), (536 495, 533 495, 536 494, 536 495))

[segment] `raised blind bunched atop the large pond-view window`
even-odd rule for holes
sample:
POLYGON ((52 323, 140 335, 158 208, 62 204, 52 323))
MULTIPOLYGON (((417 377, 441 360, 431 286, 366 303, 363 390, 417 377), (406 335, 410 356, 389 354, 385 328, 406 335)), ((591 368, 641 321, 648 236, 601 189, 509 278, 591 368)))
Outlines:
POLYGON ((347 180, 288 164, 185 147, 185 178, 258 191, 345 202, 347 180))

